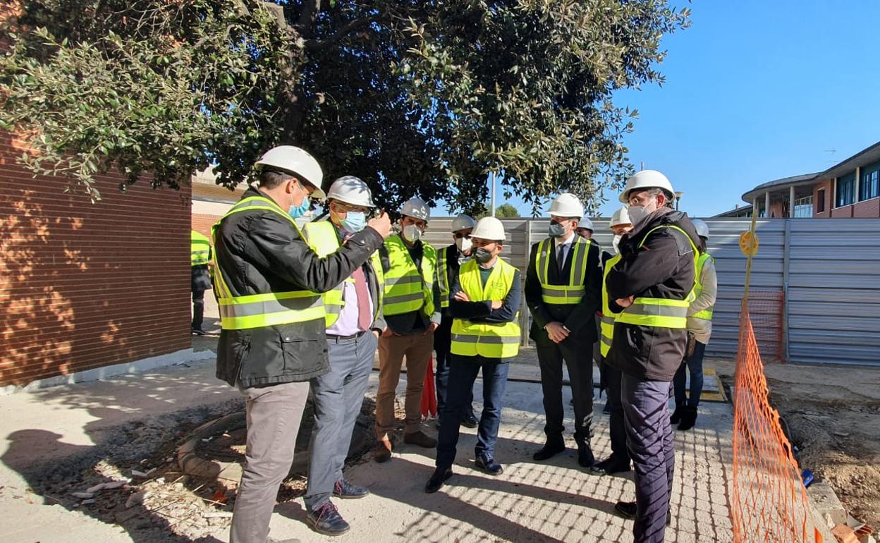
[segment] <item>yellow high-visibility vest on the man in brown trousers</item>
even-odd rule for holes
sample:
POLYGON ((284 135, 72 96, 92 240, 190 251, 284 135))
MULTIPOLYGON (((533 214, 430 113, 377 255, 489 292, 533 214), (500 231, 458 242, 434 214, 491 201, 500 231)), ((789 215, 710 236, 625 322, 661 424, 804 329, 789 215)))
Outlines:
POLYGON ((390 268, 385 272, 385 315, 419 311, 434 314, 434 275, 436 249, 422 243, 422 269, 415 268, 409 250, 400 236, 385 239, 390 268))

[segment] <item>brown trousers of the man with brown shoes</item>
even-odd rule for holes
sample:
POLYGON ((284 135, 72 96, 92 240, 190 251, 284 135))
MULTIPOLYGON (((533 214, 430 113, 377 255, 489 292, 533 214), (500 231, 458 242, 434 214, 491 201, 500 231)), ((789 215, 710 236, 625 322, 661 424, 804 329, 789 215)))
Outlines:
POLYGON ((379 391, 376 394, 376 437, 382 439, 394 429, 394 391, 400 381, 400 368, 407 358, 407 426, 411 434, 422 423, 422 388, 434 350, 434 333, 421 331, 379 338, 379 391))

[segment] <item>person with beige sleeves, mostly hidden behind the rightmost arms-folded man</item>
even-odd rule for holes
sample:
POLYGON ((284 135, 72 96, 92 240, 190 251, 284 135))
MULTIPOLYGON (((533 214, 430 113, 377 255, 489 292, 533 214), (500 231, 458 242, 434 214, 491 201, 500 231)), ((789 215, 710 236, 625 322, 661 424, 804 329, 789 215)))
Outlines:
POLYGON ((675 412, 670 418, 678 429, 692 429, 697 423, 697 406, 703 392, 703 356, 712 335, 712 312, 715 295, 718 292, 718 278, 715 275, 715 259, 708 253, 709 226, 702 219, 691 221, 700 236, 700 258, 697 260, 696 284, 693 289, 695 299, 687 309, 687 350, 672 379, 675 388, 675 412), (690 397, 685 394, 687 377, 690 374, 690 397))

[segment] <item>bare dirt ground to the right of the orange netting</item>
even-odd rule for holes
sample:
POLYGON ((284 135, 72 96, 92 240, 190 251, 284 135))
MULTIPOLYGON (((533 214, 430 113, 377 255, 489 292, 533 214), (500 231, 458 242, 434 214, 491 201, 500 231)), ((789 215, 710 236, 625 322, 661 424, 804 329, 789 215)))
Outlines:
MULTIPOLYGON (((711 361, 727 385, 732 361, 711 361)), ((880 527, 880 369, 768 363, 771 404, 802 470, 830 484, 849 514, 880 527)))

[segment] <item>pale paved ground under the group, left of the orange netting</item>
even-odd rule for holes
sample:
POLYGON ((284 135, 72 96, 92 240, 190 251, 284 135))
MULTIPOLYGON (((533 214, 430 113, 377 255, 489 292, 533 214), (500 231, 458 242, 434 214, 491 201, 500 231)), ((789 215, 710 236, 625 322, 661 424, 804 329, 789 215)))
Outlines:
MULTIPOLYGON (((203 344, 210 348, 211 339, 203 344)), ((511 375, 526 378, 536 369, 517 364, 511 375)), ((214 481, 181 478, 170 456, 199 423, 241 408, 239 394, 213 374, 214 364, 206 361, 0 397, 5 439, 0 448, 0 540, 227 541, 232 501, 212 503, 214 481), (136 477, 133 469, 150 473, 136 477), (94 502, 72 494, 123 478, 130 479, 128 485, 99 490, 94 502)), ((405 381, 406 376, 399 398, 405 381)), ((374 372, 368 397, 377 382, 374 372)), ((480 381, 474 393, 479 407, 480 381)), ((568 398, 566 388, 570 431, 568 398)), ((593 444, 600 458, 610 451, 603 406, 604 399, 597 400, 593 444)), ((401 445, 392 461, 381 465, 368 453, 348 466, 347 477, 372 494, 338 503, 351 532, 326 538, 309 530, 299 497, 303 481, 291 480, 279 495, 273 537, 339 543, 632 540, 631 521, 613 512, 619 499, 633 499, 631 474, 586 473, 576 464, 570 435, 566 453, 543 463, 532 460, 544 439, 539 383, 510 382, 502 421, 496 451, 505 468, 501 476, 473 469, 473 429, 463 429, 455 475, 435 495, 423 491, 435 451, 401 445)), ((677 433, 667 541, 732 539, 731 423, 730 404, 707 402, 700 406, 697 428, 677 433)), ((425 431, 436 434, 432 422, 425 431)))

